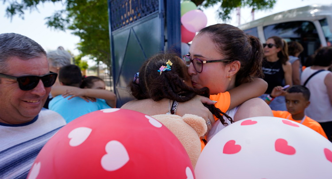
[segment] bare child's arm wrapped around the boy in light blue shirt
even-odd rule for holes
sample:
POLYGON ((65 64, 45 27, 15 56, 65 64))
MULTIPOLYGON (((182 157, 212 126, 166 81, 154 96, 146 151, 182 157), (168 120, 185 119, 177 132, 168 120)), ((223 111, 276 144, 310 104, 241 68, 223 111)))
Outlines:
POLYGON ((100 98, 104 99, 106 103, 112 107, 116 107, 116 95, 112 91, 104 90, 104 89, 90 89, 90 88, 70 88, 67 89, 63 95, 63 97, 71 96, 69 99, 76 96, 88 96, 92 98, 100 98))

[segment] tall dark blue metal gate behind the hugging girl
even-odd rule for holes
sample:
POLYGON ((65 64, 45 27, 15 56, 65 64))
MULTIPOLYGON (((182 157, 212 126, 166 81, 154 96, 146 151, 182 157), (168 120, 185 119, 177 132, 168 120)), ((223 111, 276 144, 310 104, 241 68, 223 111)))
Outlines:
POLYGON ((127 85, 160 51, 181 51, 180 0, 108 0, 117 107, 133 99, 127 85))

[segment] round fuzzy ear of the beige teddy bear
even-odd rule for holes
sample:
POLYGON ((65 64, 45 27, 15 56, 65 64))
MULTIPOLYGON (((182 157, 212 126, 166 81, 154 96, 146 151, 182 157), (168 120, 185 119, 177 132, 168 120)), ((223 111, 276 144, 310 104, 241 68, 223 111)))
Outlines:
POLYGON ((182 119, 196 130, 199 137, 207 132, 207 124, 203 117, 194 114, 185 114, 182 116, 182 119))

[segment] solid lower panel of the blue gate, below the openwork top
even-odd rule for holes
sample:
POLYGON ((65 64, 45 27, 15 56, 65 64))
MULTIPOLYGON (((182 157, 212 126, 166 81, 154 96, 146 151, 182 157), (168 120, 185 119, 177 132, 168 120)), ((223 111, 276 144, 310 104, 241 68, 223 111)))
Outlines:
POLYGON ((133 75, 146 58, 164 49, 159 45, 164 43, 161 23, 159 14, 153 13, 113 32, 114 57, 117 59, 113 63, 115 89, 119 97, 117 106, 133 100, 127 90, 133 75))

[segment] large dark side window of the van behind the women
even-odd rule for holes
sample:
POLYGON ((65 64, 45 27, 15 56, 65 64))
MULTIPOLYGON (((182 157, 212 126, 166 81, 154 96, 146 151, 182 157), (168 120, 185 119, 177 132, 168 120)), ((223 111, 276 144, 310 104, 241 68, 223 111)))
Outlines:
POLYGON ((294 21, 264 26, 264 36, 280 36, 289 41, 297 41, 303 46, 300 54, 303 62, 307 56, 313 54, 321 46, 315 25, 310 21, 294 21))

